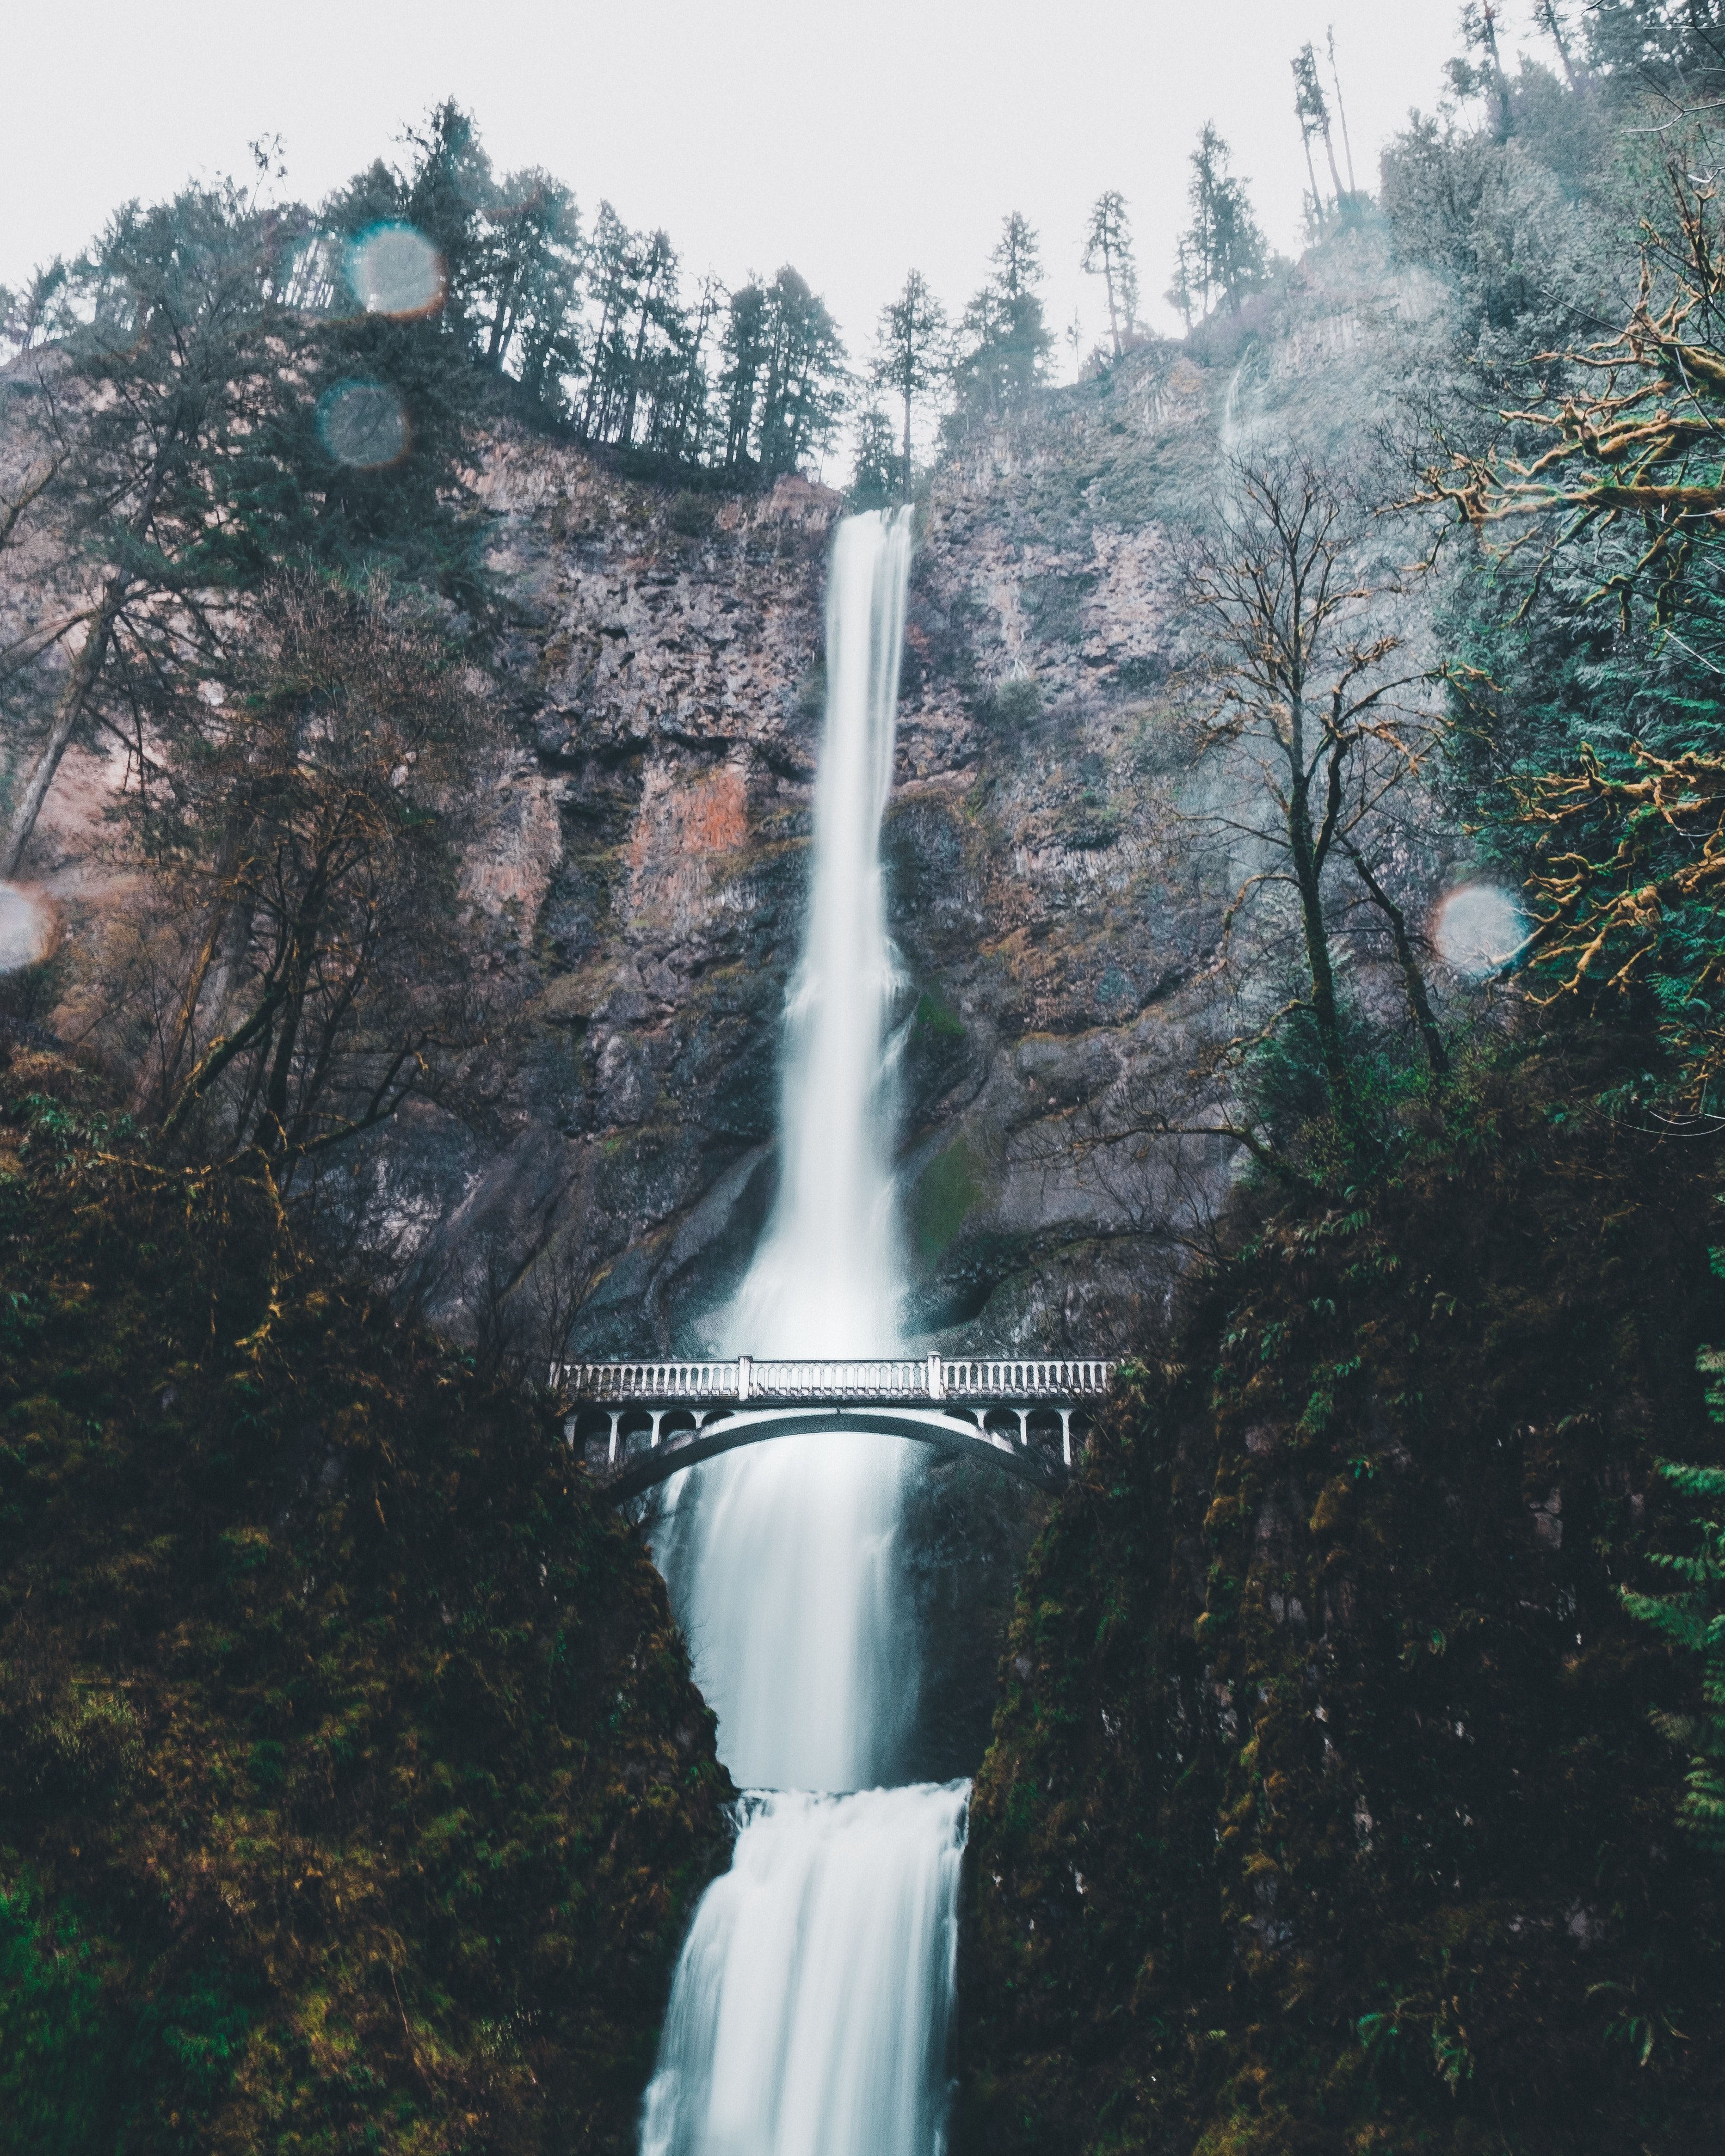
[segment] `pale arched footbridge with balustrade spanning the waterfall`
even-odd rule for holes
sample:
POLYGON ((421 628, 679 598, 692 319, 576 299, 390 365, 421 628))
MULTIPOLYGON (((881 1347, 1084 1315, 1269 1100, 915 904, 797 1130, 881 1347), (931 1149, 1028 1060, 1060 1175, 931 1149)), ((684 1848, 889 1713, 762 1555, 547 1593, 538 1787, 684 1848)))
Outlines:
POLYGON ((569 1445, 612 1503, 770 1438, 867 1429, 1059 1490, 1115 1380, 1100 1356, 558 1363, 569 1445))

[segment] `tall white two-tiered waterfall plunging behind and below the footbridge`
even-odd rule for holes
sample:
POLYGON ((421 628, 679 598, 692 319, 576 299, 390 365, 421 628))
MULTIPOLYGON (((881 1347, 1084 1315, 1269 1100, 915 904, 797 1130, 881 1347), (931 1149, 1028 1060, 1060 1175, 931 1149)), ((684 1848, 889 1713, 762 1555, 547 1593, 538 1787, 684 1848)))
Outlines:
MULTIPOLYGON (((899 1352, 893 944, 880 821, 910 513, 839 526, 802 959, 785 1007, 781 1184, 724 1313, 733 1354, 899 1352)), ((914 1708, 903 1447, 778 1438, 692 1468, 656 1554, 750 1789, 694 1915, 643 2156, 934 2156, 942 2145, 966 1783, 886 1787, 914 1708)))

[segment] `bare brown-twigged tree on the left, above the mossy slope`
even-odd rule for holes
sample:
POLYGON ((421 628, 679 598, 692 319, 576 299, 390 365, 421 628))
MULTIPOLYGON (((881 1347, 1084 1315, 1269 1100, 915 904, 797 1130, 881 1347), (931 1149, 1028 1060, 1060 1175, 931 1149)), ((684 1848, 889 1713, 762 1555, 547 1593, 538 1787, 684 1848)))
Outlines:
POLYGON ((250 686, 188 699, 132 800, 162 906, 196 923, 151 1072, 164 1136, 287 1181, 485 1028, 459 871, 487 716, 386 589, 289 582, 261 625, 250 686))

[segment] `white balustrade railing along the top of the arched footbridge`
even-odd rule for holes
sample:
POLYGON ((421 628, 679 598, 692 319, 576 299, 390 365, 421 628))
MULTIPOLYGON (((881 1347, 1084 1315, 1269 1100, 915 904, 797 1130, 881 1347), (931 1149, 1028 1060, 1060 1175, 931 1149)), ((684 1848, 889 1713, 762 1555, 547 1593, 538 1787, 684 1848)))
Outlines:
POLYGON ((733 1363, 556 1363, 552 1384, 593 1406, 727 1401, 1078 1401, 1102 1399, 1119 1365, 1104 1356, 761 1358, 733 1363))

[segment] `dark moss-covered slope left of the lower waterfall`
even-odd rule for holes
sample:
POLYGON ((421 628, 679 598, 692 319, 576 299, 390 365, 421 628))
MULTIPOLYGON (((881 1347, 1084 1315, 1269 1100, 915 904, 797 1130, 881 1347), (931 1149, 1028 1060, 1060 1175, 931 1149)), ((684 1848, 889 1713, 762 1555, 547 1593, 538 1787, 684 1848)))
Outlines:
POLYGON ((0 2150, 632 2147, 729 1796, 638 1542, 265 1188, 0 1082, 0 2150))

